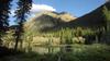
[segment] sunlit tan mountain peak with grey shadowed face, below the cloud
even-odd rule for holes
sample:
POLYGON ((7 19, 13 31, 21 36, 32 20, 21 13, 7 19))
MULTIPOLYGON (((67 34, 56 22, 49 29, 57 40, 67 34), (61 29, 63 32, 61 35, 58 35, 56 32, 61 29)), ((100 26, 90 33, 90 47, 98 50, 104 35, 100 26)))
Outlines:
POLYGON ((63 26, 65 23, 70 22, 77 17, 70 15, 67 12, 52 12, 52 11, 43 11, 35 14, 34 17, 30 19, 24 27, 32 32, 34 30, 50 30, 57 29, 59 26, 63 26))

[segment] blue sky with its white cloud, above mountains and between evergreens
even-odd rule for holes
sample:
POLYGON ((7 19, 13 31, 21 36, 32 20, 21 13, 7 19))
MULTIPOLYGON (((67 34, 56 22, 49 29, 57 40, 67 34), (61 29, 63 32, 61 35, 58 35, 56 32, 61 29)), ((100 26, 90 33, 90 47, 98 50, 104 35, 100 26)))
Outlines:
MULTIPOLYGON (((14 11, 16 9, 16 1, 12 2, 12 9, 10 14, 10 24, 15 24, 13 21, 14 11)), ((106 0, 33 0, 31 15, 34 16, 40 11, 55 11, 55 12, 68 12, 73 16, 82 16, 98 7, 102 5, 106 0)))

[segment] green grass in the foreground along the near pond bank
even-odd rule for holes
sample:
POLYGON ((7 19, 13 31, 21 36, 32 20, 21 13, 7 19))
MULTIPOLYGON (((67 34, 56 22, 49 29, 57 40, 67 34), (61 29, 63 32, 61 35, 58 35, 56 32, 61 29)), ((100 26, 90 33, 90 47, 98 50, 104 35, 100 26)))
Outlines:
POLYGON ((110 61, 110 46, 75 45, 72 52, 40 54, 36 52, 10 56, 6 61, 110 61))

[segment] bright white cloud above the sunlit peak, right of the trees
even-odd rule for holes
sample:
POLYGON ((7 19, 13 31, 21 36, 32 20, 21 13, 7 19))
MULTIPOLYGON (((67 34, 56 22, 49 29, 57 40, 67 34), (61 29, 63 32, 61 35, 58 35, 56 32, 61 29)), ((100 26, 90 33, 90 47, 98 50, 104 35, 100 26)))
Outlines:
POLYGON ((56 11, 56 9, 54 9, 53 7, 47 5, 47 4, 35 4, 35 3, 33 3, 31 12, 36 13, 36 12, 40 12, 40 11, 56 11))

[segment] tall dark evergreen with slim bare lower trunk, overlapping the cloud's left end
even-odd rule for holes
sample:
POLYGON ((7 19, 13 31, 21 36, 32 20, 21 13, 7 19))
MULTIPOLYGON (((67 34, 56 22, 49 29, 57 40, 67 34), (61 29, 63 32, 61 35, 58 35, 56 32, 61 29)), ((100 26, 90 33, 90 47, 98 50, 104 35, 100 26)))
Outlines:
POLYGON ((18 9, 15 11, 15 17, 18 23, 18 28, 15 30, 15 46, 14 49, 18 49, 19 41, 22 42, 23 35, 23 23, 26 21, 28 14, 30 13, 32 7, 32 0, 19 0, 18 9))

